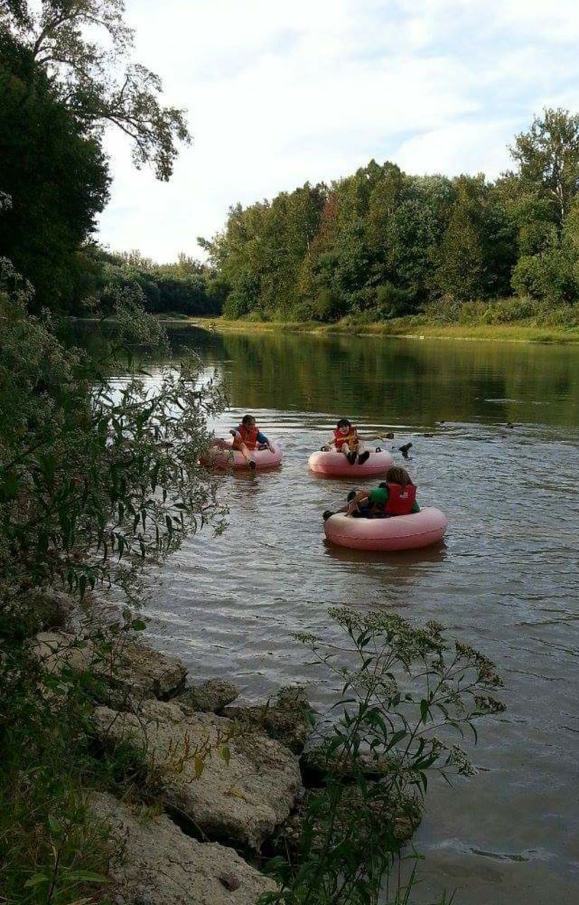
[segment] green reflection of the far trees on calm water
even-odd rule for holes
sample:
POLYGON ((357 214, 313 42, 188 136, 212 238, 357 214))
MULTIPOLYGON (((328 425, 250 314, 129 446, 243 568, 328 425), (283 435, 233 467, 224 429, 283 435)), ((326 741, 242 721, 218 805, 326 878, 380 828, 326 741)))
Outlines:
POLYGON ((223 365, 232 405, 351 413, 402 429, 436 421, 579 421, 579 349, 518 343, 191 329, 210 364, 223 365), (457 393, 460 386, 460 393, 457 393))

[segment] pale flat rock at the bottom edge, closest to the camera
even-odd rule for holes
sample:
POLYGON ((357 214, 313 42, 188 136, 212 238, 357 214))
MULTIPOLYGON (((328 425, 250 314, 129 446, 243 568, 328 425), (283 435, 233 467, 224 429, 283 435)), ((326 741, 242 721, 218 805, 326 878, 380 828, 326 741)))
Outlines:
POLYGON ((91 795, 89 805, 110 828, 114 889, 107 894, 119 905, 255 905, 275 890, 233 849, 191 839, 165 814, 143 820, 103 793, 91 795))

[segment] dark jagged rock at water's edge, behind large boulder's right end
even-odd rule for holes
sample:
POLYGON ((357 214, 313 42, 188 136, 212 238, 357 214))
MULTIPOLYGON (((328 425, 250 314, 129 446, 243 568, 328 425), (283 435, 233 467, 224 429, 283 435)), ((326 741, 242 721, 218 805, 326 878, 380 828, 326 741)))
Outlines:
POLYGON ((254 707, 226 707, 223 715, 235 719, 242 727, 257 726, 270 738, 283 742, 294 754, 301 754, 312 731, 312 714, 303 688, 280 689, 273 703, 254 707))

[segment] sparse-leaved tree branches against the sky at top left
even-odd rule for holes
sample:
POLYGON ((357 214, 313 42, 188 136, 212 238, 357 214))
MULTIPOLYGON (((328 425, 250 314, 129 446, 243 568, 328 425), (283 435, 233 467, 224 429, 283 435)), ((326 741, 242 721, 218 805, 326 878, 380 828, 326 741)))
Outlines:
POLYGON ((135 166, 151 163, 166 180, 189 131, 182 110, 163 107, 159 77, 130 62, 124 13, 123 0, 42 0, 38 12, 22 0, 0 8, 0 27, 30 50, 87 129, 100 137, 114 124, 131 139, 135 166))

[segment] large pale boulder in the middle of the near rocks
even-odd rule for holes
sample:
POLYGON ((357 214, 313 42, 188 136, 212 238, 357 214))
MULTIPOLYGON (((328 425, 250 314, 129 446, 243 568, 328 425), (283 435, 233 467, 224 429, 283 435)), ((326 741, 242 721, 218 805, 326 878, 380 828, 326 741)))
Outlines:
POLYGON ((257 849, 301 794, 291 752, 255 730, 234 734, 230 719, 146 700, 138 717, 99 707, 93 722, 105 746, 135 748, 164 805, 210 839, 257 849))

